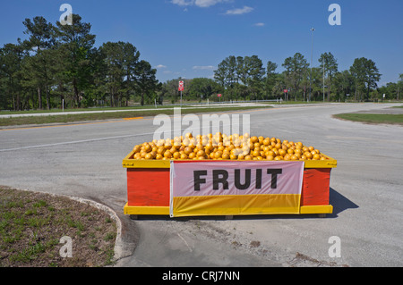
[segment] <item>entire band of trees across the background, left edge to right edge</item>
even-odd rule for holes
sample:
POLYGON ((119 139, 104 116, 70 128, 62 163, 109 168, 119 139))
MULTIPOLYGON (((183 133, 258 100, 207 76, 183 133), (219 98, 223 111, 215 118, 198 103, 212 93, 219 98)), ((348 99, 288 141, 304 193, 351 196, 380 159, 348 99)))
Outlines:
POLYGON ((399 99, 403 89, 403 74, 398 82, 378 87, 381 73, 371 59, 356 58, 339 71, 331 53, 321 54, 317 67, 296 53, 284 60, 281 72, 277 63, 263 63, 257 55, 230 55, 213 78, 160 83, 157 70, 141 60, 133 44, 96 47, 90 23, 77 14, 72 25, 40 16, 23 25, 27 39, 0 48, 0 110, 177 103, 178 80, 184 80, 183 99, 192 101, 365 101, 399 99))

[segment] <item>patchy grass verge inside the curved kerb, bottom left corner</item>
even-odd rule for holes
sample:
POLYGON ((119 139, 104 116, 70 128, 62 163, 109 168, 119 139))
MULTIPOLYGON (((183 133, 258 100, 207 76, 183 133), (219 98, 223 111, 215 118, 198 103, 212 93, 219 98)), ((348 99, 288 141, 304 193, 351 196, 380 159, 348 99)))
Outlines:
POLYGON ((0 267, 102 267, 113 264, 116 222, 68 197, 0 187, 0 267), (63 257, 62 238, 72 240, 63 257))

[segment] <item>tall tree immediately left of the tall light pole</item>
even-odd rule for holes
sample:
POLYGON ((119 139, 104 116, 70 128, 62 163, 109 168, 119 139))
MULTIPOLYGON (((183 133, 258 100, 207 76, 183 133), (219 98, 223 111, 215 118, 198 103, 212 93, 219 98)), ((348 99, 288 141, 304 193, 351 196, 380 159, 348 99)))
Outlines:
POLYGON ((286 71, 284 71, 286 82, 293 87, 294 98, 296 99, 301 80, 303 80, 309 64, 304 58, 304 55, 296 53, 293 57, 287 57, 282 66, 286 69, 286 71))

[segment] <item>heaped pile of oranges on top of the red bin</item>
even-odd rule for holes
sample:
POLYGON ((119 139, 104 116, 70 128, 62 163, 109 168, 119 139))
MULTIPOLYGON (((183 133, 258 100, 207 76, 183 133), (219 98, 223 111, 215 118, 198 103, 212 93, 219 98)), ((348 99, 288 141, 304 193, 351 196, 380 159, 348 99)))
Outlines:
POLYGON ((315 147, 306 147, 300 141, 279 138, 251 137, 220 132, 215 135, 192 133, 173 139, 154 139, 133 147, 133 159, 137 160, 327 160, 315 147))

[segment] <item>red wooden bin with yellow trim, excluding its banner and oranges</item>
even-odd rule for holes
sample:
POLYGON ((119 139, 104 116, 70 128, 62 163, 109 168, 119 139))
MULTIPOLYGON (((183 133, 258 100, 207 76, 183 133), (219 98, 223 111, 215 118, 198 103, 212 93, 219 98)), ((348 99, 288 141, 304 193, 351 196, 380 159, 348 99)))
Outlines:
MULTIPOLYGON (((123 167, 127 170, 127 204, 124 205, 124 214, 130 214, 133 218, 137 215, 169 215, 170 161, 136 160, 133 154, 130 153, 123 160, 123 167)), ((333 212, 329 201, 330 172, 337 167, 337 161, 326 157, 327 160, 304 162, 298 214, 319 214, 324 217, 333 212)), ((242 163, 239 161, 240 165, 242 163)))

